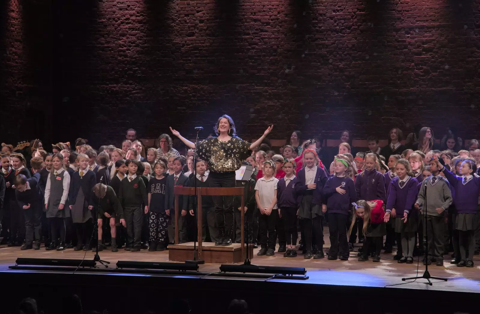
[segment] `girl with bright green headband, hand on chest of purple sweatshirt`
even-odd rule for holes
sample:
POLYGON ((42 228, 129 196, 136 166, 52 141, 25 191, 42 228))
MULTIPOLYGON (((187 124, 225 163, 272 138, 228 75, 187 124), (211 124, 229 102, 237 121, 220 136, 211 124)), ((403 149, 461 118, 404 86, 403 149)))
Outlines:
POLYGON ((347 175, 351 168, 347 160, 335 158, 335 174, 324 186, 324 198, 330 228, 330 249, 328 259, 348 260, 347 221, 350 204, 357 201, 355 183, 347 175))

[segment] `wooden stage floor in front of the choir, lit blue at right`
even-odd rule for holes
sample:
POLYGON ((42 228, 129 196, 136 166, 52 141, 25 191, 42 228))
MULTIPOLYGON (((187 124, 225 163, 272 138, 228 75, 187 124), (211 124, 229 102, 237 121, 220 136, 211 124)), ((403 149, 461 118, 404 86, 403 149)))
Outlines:
MULTIPOLYGON (((328 227, 325 228, 324 234, 328 235, 328 227)), ((329 247, 329 238, 325 236, 325 248, 329 247)), ((308 271, 308 280, 287 280, 288 282, 297 282, 304 284, 322 284, 322 285, 345 285, 345 286, 366 286, 366 287, 385 287, 389 285, 396 285, 404 283, 402 278, 421 276, 423 274, 424 266, 418 264, 415 258, 414 264, 398 264, 393 259, 394 254, 381 254, 381 261, 379 263, 372 262, 370 258, 367 262, 357 261, 357 249, 360 245, 355 245, 355 252, 350 252, 350 259, 348 261, 327 260, 323 258, 304 259, 302 254, 297 258, 285 258, 283 253, 275 253, 272 257, 257 257, 258 248, 254 250, 252 264, 259 266, 286 266, 286 267, 305 267, 308 271)), ((278 246, 277 246, 278 247, 278 246)), ((46 251, 43 247, 40 250, 25 250, 21 251, 20 247, 6 247, 0 246, 0 272, 15 271, 8 269, 8 266, 15 265, 15 259, 22 258, 68 258, 68 259, 82 259, 84 258, 84 251, 75 252, 73 249, 65 251, 46 251)), ((92 259, 94 253, 89 251, 86 253, 86 259, 92 259)), ((109 250, 100 252, 100 257, 103 260, 111 262, 110 268, 115 268, 118 260, 126 261, 150 261, 150 262, 167 262, 168 250, 163 252, 148 252, 142 250, 140 252, 128 252, 120 249, 117 253, 112 253, 109 250)), ((423 284, 425 280, 420 279, 413 283, 394 286, 396 288, 409 289, 427 289, 440 291, 456 291, 456 292, 480 292, 480 256, 474 257, 474 268, 456 267, 449 263, 450 256, 445 257, 445 265, 438 267, 435 265, 429 266, 429 271, 432 276, 448 278, 447 282, 437 282, 433 286, 423 284)), ((241 263, 240 263, 241 264, 241 263)), ((200 265, 200 273, 208 274, 219 270, 220 264, 204 264, 200 265)), ((220 277, 205 277, 205 278, 220 278, 220 277)), ((223 277, 222 277, 223 278, 223 277)), ((282 279, 274 279, 274 281, 282 281, 282 279)), ((434 282, 436 280, 433 280, 434 282)))

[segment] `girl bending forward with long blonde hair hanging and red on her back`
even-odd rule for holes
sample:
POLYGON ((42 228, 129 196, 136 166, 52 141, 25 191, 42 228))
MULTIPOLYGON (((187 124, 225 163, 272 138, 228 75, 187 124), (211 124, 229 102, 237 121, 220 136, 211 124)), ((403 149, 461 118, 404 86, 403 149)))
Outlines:
POLYGON ((373 261, 380 261, 380 250, 382 249, 382 242, 386 233, 383 209, 384 202, 382 200, 364 201, 352 203, 355 207, 355 214, 353 215, 352 224, 348 233, 350 233, 355 225, 357 217, 362 218, 362 231, 365 235, 365 243, 363 244, 363 254, 358 259, 359 262, 368 260, 368 252, 373 251, 373 261))

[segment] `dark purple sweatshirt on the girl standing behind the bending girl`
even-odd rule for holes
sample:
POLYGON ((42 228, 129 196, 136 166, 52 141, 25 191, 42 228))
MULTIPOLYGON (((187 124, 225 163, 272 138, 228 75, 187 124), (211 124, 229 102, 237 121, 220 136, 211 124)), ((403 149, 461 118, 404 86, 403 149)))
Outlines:
POLYGON ((358 200, 373 201, 382 200, 385 202, 385 178, 376 169, 365 170, 355 180, 355 190, 358 200))

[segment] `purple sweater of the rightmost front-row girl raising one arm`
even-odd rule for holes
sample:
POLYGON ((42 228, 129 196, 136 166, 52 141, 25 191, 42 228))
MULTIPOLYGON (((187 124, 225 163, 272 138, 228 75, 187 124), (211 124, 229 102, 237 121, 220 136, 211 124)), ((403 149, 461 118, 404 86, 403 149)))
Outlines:
POLYGON ((466 183, 463 182, 463 176, 458 177, 448 171, 442 170, 445 178, 453 186, 455 193, 452 192, 456 213, 477 213, 477 206, 480 195, 480 178, 473 176, 466 183))

